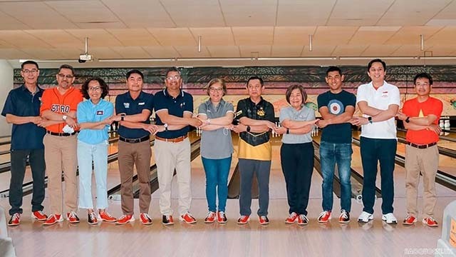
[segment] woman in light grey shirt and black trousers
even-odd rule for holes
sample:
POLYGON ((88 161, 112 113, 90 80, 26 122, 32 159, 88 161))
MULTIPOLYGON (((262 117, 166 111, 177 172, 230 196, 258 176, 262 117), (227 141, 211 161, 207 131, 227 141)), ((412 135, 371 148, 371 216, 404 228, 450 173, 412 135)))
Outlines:
POLYGON ((314 171, 314 146, 311 131, 316 123, 315 111, 304 106, 307 94, 300 85, 292 85, 286 90, 286 101, 291 105, 280 110, 282 133, 280 159, 286 182, 289 217, 285 223, 298 222, 307 225, 307 204, 314 171))

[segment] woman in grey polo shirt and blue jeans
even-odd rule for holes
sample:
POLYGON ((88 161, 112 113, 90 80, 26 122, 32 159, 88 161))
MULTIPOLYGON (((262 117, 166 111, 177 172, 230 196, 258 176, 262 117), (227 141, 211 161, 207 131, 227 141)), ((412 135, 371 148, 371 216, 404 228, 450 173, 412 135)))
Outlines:
POLYGON ((206 198, 209 207, 204 222, 226 223, 225 206, 228 196, 228 173, 231 166, 233 144, 229 126, 234 119, 231 103, 222 99, 227 92, 223 79, 212 79, 207 84, 209 100, 199 105, 201 126, 201 156, 206 173, 206 198), (216 193, 217 191, 217 193, 216 193), (216 198, 219 197, 217 211, 216 198))

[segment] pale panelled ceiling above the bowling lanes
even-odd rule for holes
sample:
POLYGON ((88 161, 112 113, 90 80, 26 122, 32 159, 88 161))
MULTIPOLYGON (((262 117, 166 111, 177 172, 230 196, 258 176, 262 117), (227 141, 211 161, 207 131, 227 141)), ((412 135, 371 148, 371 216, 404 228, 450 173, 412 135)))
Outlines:
POLYGON ((456 0, 0 0, 0 59, 14 66, 18 59, 76 60, 86 37, 97 61, 75 66, 364 65, 343 57, 456 56, 456 0), (220 60, 252 56, 337 59, 220 60), (98 61, 188 58, 216 60, 98 61))

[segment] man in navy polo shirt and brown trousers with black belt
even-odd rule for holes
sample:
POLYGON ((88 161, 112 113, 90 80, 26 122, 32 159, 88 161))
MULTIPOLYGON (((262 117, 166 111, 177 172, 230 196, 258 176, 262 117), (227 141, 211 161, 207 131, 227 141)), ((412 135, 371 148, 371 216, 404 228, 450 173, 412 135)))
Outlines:
POLYGON ((150 218, 150 133, 156 126, 150 124, 153 109, 153 95, 142 91, 144 75, 141 71, 128 71, 128 92, 115 99, 113 121, 120 121, 119 134, 119 172, 120 193, 123 216, 118 224, 135 221, 133 216, 133 165, 136 166, 140 182, 140 219, 145 225, 152 223, 150 218))

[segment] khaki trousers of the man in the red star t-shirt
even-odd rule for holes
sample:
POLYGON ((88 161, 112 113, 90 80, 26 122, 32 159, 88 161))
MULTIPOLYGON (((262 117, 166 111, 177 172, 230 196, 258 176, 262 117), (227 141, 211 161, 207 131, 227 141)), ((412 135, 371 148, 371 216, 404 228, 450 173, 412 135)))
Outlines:
POLYGON ((405 146, 405 195, 407 197, 407 213, 418 215, 418 184, 420 172, 423 174, 423 214, 434 215, 437 194, 435 193, 435 174, 439 166, 439 150, 437 145, 418 149, 405 146))

